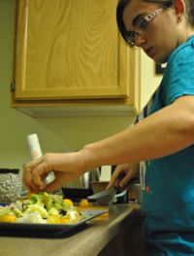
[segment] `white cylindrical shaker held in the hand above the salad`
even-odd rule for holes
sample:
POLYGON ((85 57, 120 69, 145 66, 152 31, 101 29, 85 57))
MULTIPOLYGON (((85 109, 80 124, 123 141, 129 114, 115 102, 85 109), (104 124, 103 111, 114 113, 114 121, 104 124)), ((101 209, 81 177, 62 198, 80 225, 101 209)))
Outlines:
MULTIPOLYGON (((42 149, 41 149, 41 146, 39 143, 39 138, 36 133, 29 134, 27 136, 27 143, 29 146, 32 160, 36 160, 43 156, 42 149)), ((52 171, 52 172, 49 172, 49 175, 46 177, 45 182, 46 182, 46 184, 49 184, 54 179, 55 179, 55 177, 54 177, 54 173, 52 171)))

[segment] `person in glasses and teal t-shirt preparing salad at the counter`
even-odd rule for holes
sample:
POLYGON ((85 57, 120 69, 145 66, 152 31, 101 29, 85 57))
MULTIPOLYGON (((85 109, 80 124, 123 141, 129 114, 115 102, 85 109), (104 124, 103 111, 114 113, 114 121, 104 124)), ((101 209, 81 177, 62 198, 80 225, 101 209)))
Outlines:
POLYGON ((144 161, 147 255, 194 255, 194 1, 120 0, 116 14, 130 47, 167 62, 145 119, 79 152, 45 154, 25 166, 23 179, 30 191, 53 191, 96 166, 117 165, 110 186, 123 187, 144 161), (46 185, 50 171, 55 180, 46 185))

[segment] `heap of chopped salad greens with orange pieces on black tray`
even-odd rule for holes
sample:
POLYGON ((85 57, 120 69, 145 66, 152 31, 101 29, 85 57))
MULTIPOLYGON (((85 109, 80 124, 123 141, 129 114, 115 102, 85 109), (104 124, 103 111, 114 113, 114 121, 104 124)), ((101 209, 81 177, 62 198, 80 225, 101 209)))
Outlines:
POLYGON ((62 196, 46 192, 33 194, 23 201, 18 200, 9 205, 0 206, 0 222, 7 219, 9 221, 8 216, 16 217, 16 222, 21 223, 52 224, 76 223, 86 217, 75 206, 65 203, 62 196))

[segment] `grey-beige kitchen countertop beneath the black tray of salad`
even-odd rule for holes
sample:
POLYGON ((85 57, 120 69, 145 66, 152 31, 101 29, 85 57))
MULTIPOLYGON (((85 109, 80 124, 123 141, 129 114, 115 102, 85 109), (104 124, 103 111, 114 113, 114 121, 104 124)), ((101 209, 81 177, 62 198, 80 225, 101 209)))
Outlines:
POLYGON ((92 220, 79 232, 64 238, 0 238, 1 256, 98 255, 117 233, 132 222, 139 206, 113 204, 109 217, 92 220))

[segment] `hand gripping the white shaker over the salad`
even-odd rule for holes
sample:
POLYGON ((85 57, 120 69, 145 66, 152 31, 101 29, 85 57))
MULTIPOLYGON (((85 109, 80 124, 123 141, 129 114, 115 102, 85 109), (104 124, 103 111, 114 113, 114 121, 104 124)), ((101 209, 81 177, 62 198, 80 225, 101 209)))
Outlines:
POLYGON ((80 152, 68 154, 47 153, 24 166, 23 182, 30 192, 54 191, 84 172, 80 152), (55 179, 48 185, 45 178, 53 171, 55 179))

